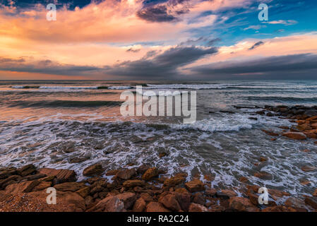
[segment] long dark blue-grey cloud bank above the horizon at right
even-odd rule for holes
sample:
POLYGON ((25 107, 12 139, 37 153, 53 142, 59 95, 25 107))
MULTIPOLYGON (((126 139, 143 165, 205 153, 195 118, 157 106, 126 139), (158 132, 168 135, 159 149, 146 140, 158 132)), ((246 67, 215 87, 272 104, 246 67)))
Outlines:
MULTIPOLYGON (((237 78, 237 75, 263 75, 268 78, 289 78, 301 74, 316 78, 317 55, 295 54, 280 57, 265 57, 251 61, 225 61, 189 69, 203 78, 237 78)), ((261 77, 261 76, 254 76, 261 77)))

